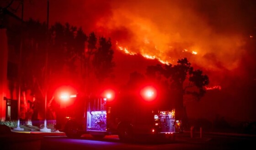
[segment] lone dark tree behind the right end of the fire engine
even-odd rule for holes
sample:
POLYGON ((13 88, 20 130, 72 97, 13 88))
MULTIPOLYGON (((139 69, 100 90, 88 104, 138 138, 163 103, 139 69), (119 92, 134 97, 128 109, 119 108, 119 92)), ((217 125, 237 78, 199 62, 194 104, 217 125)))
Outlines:
POLYGON ((208 76, 203 75, 202 70, 193 70, 187 58, 178 60, 176 65, 148 66, 146 74, 151 78, 168 82, 170 92, 176 95, 176 119, 185 122, 187 121, 185 98, 200 100, 205 94, 204 86, 209 84, 208 76))

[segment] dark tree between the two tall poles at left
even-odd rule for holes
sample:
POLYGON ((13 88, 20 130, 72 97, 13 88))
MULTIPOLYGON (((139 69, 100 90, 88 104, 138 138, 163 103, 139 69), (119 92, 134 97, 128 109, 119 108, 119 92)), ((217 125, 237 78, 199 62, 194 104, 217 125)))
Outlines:
MULTIPOLYGON (((27 105, 24 110, 37 109, 40 116, 43 114, 44 104, 42 92, 45 90, 43 67, 45 66, 47 26, 46 23, 29 19, 24 23, 21 33, 21 93, 26 93, 21 98, 23 101, 26 100, 27 104, 32 104, 35 96, 38 105, 33 108, 32 105, 27 105), (28 93, 28 91, 31 92, 28 93)), ((25 114, 29 113, 26 112, 25 114)), ((26 118, 31 119, 27 116, 26 118)))

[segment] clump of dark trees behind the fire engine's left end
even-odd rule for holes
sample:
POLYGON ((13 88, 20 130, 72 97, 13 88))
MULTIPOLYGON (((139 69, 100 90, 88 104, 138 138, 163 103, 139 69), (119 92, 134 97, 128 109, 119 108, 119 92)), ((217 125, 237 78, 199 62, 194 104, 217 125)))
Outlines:
POLYGON ((8 33, 8 38, 13 45, 22 46, 21 92, 31 91, 41 114, 46 90, 48 101, 61 85, 72 85, 88 94, 94 84, 91 78, 104 80, 114 66, 110 39, 97 39, 94 32, 87 37, 82 28, 68 23, 55 23, 48 29, 45 22, 29 19, 24 27, 8 33))

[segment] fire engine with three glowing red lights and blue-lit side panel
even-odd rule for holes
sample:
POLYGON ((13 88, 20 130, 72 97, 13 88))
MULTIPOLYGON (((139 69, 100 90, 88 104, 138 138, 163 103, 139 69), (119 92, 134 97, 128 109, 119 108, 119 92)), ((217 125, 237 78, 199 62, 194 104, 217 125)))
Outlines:
POLYGON ((91 134, 98 139, 118 135, 122 141, 133 140, 136 135, 174 139, 181 127, 181 121, 175 119, 175 109, 158 103, 157 91, 151 86, 139 92, 111 91, 86 98, 79 94, 65 95, 61 99, 66 100, 62 111, 65 119, 56 121, 69 138, 91 134))

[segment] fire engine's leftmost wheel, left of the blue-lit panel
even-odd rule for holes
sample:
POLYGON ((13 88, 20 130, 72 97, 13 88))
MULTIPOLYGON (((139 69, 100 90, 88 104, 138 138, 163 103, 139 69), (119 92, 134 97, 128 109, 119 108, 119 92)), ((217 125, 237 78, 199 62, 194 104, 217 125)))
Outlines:
POLYGON ((78 126, 75 121, 68 121, 65 125, 65 133, 68 138, 80 138, 81 134, 78 132, 78 126))

